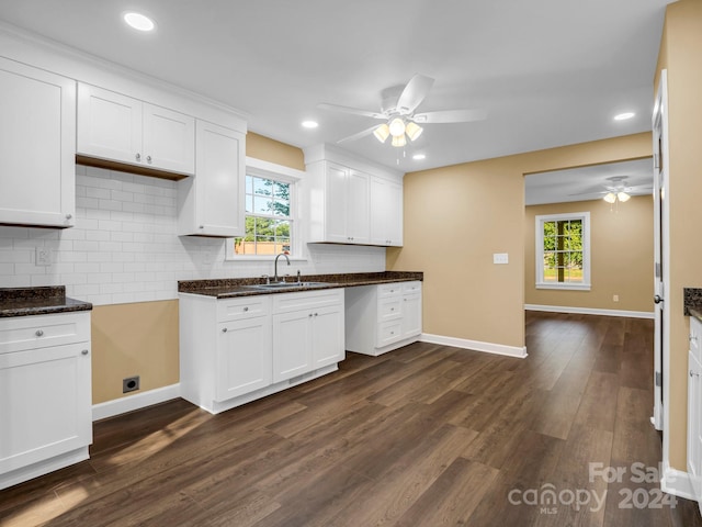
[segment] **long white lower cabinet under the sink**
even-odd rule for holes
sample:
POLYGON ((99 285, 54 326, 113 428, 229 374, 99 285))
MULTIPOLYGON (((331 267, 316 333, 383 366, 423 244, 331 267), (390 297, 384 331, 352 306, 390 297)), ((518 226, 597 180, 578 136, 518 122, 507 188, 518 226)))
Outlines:
POLYGON ((213 414, 335 371, 344 358, 342 289, 179 299, 181 396, 213 414))

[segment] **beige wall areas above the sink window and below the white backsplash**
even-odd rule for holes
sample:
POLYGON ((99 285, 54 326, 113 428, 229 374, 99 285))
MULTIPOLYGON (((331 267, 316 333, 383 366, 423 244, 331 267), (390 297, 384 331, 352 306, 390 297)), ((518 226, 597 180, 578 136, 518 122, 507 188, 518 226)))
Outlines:
MULTIPOLYGON (((305 169, 299 148, 251 132, 246 154, 305 169)), ((95 306, 91 329, 93 404, 179 382, 177 300, 95 306), (140 390, 123 394, 122 380, 137 374, 140 390)))

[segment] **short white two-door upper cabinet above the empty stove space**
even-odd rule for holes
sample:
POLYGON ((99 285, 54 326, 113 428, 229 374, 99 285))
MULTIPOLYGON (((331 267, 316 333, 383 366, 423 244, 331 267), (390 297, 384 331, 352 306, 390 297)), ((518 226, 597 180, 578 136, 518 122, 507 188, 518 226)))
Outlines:
POLYGON ((193 175, 195 119, 90 85, 78 85, 79 155, 193 175))

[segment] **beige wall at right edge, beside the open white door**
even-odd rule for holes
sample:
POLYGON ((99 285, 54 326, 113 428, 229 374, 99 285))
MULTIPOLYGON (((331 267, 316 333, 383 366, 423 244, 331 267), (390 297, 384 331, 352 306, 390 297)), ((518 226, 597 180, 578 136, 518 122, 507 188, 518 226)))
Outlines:
POLYGON ((682 289, 702 288, 700 203, 702 197, 702 1, 680 0, 666 10, 658 57, 668 70, 670 208, 670 288, 666 303, 670 317, 669 412, 670 464, 686 470, 689 319, 682 314, 682 289))

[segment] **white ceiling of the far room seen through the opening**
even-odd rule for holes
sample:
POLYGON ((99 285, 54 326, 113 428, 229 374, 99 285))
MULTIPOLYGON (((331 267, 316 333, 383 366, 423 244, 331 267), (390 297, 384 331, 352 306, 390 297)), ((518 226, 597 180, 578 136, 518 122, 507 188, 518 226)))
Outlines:
POLYGON ((625 190, 631 195, 646 195, 653 193, 653 182, 654 169, 650 157, 532 173, 524 178, 524 203, 541 205, 598 200, 609 192, 608 188, 625 190), (623 179, 619 180, 620 178, 623 179))

